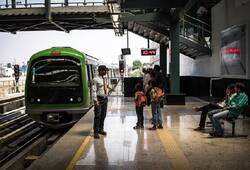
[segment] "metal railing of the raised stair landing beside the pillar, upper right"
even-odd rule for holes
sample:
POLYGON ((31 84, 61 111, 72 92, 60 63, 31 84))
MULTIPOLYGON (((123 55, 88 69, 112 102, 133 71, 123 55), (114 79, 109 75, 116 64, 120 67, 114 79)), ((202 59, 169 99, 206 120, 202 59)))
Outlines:
POLYGON ((204 47, 211 47, 211 26, 190 15, 185 14, 181 19, 180 35, 204 45, 204 47))

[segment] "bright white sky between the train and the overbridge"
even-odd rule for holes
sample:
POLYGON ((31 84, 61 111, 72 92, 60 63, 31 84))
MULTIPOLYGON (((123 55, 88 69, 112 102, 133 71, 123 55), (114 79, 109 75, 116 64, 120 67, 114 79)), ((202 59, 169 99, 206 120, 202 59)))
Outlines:
MULTIPOLYGON (((113 30, 75 30, 70 33, 60 31, 0 32, 0 63, 26 63, 32 54, 51 47, 66 46, 85 52, 99 60, 111 64, 118 63, 121 48, 127 48, 127 35, 115 36, 113 30)), ((134 60, 149 62, 149 56, 141 56, 141 48, 147 48, 147 39, 129 32, 131 55, 126 63, 134 60)))

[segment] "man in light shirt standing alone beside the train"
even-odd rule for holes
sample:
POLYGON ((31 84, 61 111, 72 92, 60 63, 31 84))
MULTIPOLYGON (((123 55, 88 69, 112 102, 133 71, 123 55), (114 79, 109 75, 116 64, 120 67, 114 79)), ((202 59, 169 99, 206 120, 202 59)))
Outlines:
POLYGON ((98 75, 93 79, 93 100, 94 100, 94 138, 100 138, 99 134, 107 135, 104 131, 104 120, 107 113, 108 106, 108 86, 106 75, 107 68, 105 65, 98 67, 98 75))

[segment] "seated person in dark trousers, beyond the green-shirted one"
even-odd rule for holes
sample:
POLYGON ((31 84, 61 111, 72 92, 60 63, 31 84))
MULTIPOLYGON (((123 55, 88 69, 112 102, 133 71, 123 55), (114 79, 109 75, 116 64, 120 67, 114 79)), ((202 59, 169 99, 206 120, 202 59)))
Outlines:
MULTIPOLYGON (((206 118, 207 118, 207 113, 211 110, 215 109, 222 109, 226 107, 226 105, 229 103, 229 100, 232 99, 232 97, 236 95, 234 91, 234 84, 229 84, 226 89, 226 96, 223 98, 221 102, 218 103, 209 103, 205 106, 195 108, 195 111, 201 111, 201 117, 200 117, 200 124, 197 128, 195 128, 195 131, 200 131, 204 130, 205 128, 205 123, 206 123, 206 118)), ((219 110, 218 110, 219 111, 219 110)))

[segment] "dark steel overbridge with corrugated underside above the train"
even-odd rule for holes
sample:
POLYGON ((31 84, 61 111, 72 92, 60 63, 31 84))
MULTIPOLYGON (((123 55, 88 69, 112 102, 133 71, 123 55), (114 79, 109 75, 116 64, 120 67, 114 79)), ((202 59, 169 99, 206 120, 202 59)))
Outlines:
MULTIPOLYGON (((110 6, 106 0, 82 2, 25 3, 12 0, 10 4, 0 4, 0 31, 16 33, 17 31, 58 30, 69 32, 84 29, 116 29, 113 17, 118 13, 115 5, 110 6)), ((120 31, 121 32, 121 31, 120 31)))

